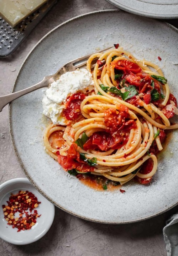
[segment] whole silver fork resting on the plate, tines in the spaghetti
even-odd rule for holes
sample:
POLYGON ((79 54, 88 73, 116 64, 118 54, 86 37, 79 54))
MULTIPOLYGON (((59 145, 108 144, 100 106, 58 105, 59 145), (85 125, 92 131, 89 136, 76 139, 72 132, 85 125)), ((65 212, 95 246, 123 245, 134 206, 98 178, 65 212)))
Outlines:
MULTIPOLYGON (((106 51, 106 50, 108 50, 112 47, 113 46, 110 46, 110 47, 101 49, 99 51, 95 51, 94 53, 101 53, 102 51, 106 51)), ((20 90, 19 92, 15 92, 15 93, 11 93, 11 94, 8 94, 8 95, 0 96, 0 112, 12 100, 15 100, 15 99, 27 94, 27 93, 35 91, 37 89, 40 89, 40 88, 43 88, 43 87, 48 87, 52 82, 59 79, 59 77, 62 74, 66 73, 68 71, 74 71, 77 68, 83 67, 84 65, 86 65, 87 59, 89 58, 89 56, 91 54, 94 54, 94 53, 90 53, 90 54, 84 55, 80 58, 69 61, 68 63, 64 64, 55 74, 48 75, 48 76, 44 77, 41 82, 39 82, 37 84, 34 84, 31 87, 20 90)), ((102 61, 102 64, 104 64, 104 62, 105 61, 102 61)), ((94 67, 94 65, 95 64, 93 64, 93 66, 91 66, 91 67, 94 67)))

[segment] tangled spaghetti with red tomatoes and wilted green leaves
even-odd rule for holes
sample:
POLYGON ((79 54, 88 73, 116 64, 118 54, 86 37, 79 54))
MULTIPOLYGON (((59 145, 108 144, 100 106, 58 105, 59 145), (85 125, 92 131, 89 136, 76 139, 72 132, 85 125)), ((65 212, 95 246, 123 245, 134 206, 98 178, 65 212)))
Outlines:
POLYGON ((70 124, 48 125, 47 153, 78 178, 105 177, 104 189, 109 182, 122 185, 134 177, 149 183, 165 131, 178 128, 169 121, 178 109, 166 78, 157 65, 121 47, 91 55, 87 69, 94 87, 68 97, 62 115, 70 124))

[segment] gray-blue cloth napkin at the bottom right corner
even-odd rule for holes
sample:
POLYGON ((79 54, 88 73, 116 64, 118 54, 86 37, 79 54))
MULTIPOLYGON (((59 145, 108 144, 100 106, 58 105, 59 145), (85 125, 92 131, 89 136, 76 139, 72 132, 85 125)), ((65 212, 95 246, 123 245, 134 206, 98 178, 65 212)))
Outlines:
POLYGON ((166 243, 167 256, 178 256, 178 213, 172 215, 166 221, 163 228, 164 241, 166 243))

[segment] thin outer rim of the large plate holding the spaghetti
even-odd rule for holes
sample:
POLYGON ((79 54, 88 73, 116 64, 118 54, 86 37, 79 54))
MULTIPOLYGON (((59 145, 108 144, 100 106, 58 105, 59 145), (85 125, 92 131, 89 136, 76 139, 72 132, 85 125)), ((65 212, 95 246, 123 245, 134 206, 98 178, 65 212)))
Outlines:
MULTIPOLYGON (((71 18, 67 21, 64 21, 63 23, 59 24, 58 26, 56 26, 55 28, 53 28, 52 30, 50 30, 46 35, 44 35, 36 44, 35 46, 33 46, 33 48, 31 49, 31 51, 27 54, 27 56, 25 57, 25 59, 23 60, 22 64, 21 64, 21 67, 19 69, 19 72, 17 73, 17 76, 16 76, 16 79, 15 79, 15 82, 14 82, 14 85, 12 87, 12 91, 11 93, 13 93, 16 89, 16 85, 17 85, 17 82, 18 82, 18 79, 19 79, 19 76, 20 76, 20 73, 21 73, 21 70, 23 69, 28 57, 32 54, 33 50, 38 46, 40 45, 40 43, 47 37, 49 36, 54 30, 60 28, 61 26, 75 20, 75 19, 79 19, 81 17, 85 17, 85 16, 89 16, 89 15, 93 15, 95 13, 109 13, 109 12, 121 12, 121 10, 117 10, 117 9, 107 9, 107 10, 98 10, 98 11, 92 11, 92 12, 89 12, 89 13, 85 13, 85 14, 81 14, 81 15, 78 15, 78 16, 75 16, 74 18, 71 18)), ((133 14, 132 14, 133 15, 133 14)), ((148 19, 147 17, 143 17, 145 19, 148 19)), ((166 24, 169 28, 171 28, 172 30, 176 31, 178 33, 178 29, 176 27, 174 27, 173 25, 167 23, 167 22, 162 22, 162 21, 159 21, 157 20, 157 22, 160 22, 160 23, 164 23, 166 24)), ((55 205, 56 207, 60 208, 61 210, 75 216, 75 217, 79 217, 83 220, 87 220, 87 221, 92 221, 92 222, 96 222, 96 223, 104 223, 104 224, 128 224, 128 223, 134 223, 134 222, 139 222, 139 221, 143 221, 143 220, 147 220, 147 219, 150 219, 152 217, 156 217, 164 212, 167 212, 169 210, 171 210, 173 207, 175 207, 176 205, 178 205, 178 201, 177 203, 174 203, 173 205, 169 206, 168 208, 166 208, 165 210, 163 211, 159 211, 155 214, 151 214, 147 217, 142 217, 142 218, 137 218, 136 220, 131 220, 131 221, 101 221, 101 220, 97 220, 97 219, 94 219, 94 218, 89 218, 89 217, 84 217, 82 215, 79 215, 77 213, 74 213, 70 210, 67 210, 65 209, 64 207, 58 205, 56 202, 54 202, 54 200, 52 198, 50 198, 49 196, 47 196, 45 194, 45 192, 42 191, 42 189, 40 187, 37 186, 36 182, 33 181, 33 179, 31 179, 31 177, 28 175, 28 172, 26 171, 25 169, 25 166, 23 165, 23 162, 21 161, 21 158, 20 156, 18 155, 18 152, 17 152, 17 148, 16 148, 16 145, 15 145, 15 141, 14 141, 14 136, 13 136, 13 129, 12 129, 12 125, 11 125, 11 114, 12 114, 12 108, 11 108, 11 103, 9 104, 9 110, 8 110, 8 113, 9 113, 9 118, 8 118, 8 121, 9 121, 9 132, 10 132, 10 138, 11 138, 11 142, 12 142, 12 147, 14 148, 14 152, 15 152, 15 155, 16 155, 16 158, 17 158, 17 161, 19 162, 23 172, 25 173, 26 177, 28 178, 28 180, 33 184, 33 186, 37 189, 38 192, 40 192, 45 198, 47 198, 48 201, 50 201, 51 203, 53 203, 53 205, 55 205)))

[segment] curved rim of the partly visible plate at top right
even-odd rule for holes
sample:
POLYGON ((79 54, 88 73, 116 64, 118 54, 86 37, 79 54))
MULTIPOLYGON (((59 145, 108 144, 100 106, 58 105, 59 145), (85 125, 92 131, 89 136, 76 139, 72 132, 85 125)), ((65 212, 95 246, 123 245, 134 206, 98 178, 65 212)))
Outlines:
MULTIPOLYGON (((134 0, 134 1, 136 2, 137 0, 134 0)), ((156 19, 177 19, 178 18, 178 13, 175 15, 171 15, 171 14, 160 14, 159 15, 159 14, 152 14, 152 13, 144 13, 143 14, 143 12, 141 10, 139 11, 139 10, 130 8, 129 6, 123 5, 121 3, 116 3, 116 0, 106 0, 106 2, 116 6, 117 8, 120 8, 123 11, 127 11, 129 13, 140 15, 143 17, 148 17, 148 18, 153 18, 153 19, 154 18, 156 18, 156 19)), ((150 3, 145 3, 145 4, 151 5, 150 3)), ((161 5, 159 5, 159 6, 161 6, 161 5)))

